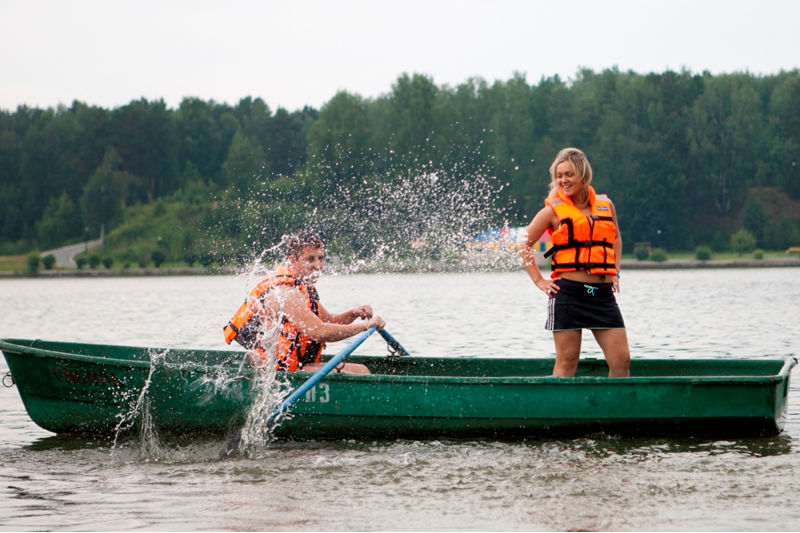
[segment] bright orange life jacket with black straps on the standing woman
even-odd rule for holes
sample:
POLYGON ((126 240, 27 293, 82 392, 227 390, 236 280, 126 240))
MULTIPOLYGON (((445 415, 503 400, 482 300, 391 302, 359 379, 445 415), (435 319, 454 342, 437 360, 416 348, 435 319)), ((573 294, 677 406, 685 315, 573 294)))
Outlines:
POLYGON ((617 226, 608 196, 596 194, 589 187, 589 216, 581 213, 560 190, 558 198, 545 200, 545 204, 553 208, 559 220, 558 229, 548 229, 553 246, 544 254, 553 256, 552 278, 579 270, 590 274, 617 273, 614 254, 617 226))

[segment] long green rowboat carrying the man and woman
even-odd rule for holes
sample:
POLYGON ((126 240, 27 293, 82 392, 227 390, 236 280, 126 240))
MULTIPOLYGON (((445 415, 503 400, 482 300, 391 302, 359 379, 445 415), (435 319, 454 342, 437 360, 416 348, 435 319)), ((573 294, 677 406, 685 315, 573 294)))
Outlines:
MULTIPOLYGON (((259 391, 243 352, 21 339, 0 340, 0 350, 31 419, 55 433, 113 433, 143 413, 158 431, 226 433, 259 391)), ((292 405, 276 436, 769 436, 783 428, 797 362, 634 359, 632 377, 608 378, 605 361, 585 359, 576 377, 556 378, 547 358, 348 360, 372 374, 329 374, 292 405)), ((310 374, 278 376, 295 389, 310 374)))

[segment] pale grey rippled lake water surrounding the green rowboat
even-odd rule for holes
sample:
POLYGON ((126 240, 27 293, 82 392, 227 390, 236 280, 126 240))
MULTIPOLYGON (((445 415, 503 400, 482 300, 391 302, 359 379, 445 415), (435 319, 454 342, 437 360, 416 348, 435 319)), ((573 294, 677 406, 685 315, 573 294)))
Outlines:
MULTIPOLYGON (((0 337, 222 348, 256 279, 0 280, 0 337)), ((553 356, 524 272, 328 275, 319 290, 329 310, 372 304, 412 354, 553 356)), ((798 268, 628 270, 618 301, 634 358, 800 351, 798 268)), ((358 352, 385 353, 373 337, 358 352)), ((590 334, 583 353, 601 356, 590 334)), ((220 442, 154 457, 56 437, 2 387, 0 530, 800 530, 794 378, 774 438, 279 442, 226 460, 220 442)))

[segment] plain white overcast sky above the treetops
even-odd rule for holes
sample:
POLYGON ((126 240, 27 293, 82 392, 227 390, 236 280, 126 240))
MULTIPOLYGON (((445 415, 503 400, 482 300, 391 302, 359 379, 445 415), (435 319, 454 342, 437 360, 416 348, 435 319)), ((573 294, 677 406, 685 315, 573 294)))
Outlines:
POLYGON ((0 109, 185 96, 274 111, 404 72, 454 87, 578 69, 800 67, 796 0, 0 0, 0 109))

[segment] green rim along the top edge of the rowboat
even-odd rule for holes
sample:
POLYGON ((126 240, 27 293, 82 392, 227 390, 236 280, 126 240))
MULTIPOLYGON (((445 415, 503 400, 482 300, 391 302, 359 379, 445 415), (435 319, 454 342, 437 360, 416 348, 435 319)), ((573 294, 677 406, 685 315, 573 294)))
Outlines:
MULTIPOLYGON (((141 369, 149 369, 151 367, 151 361, 143 360, 143 359, 118 359, 109 356, 98 356, 98 355, 86 355, 86 354, 78 354, 78 353, 70 353, 70 352, 62 352, 58 350, 49 350, 45 348, 37 348, 32 346, 32 344, 36 342, 59 342, 59 341, 47 341, 43 339, 0 339, 0 351, 5 353, 6 350, 10 352, 24 352, 29 355, 37 356, 37 357, 46 357, 46 358, 53 358, 53 359, 67 359, 72 361, 79 361, 84 363, 93 363, 93 364, 103 364, 103 365, 113 365, 118 367, 128 367, 128 368, 141 368, 141 369), (30 345, 25 345, 23 342, 28 342, 30 345)), ((73 344, 76 346, 80 345, 89 345, 89 346, 109 346, 112 348, 126 348, 130 350, 141 351, 142 353, 147 353, 149 351, 155 352, 163 352, 169 350, 176 350, 176 351, 193 351, 191 348, 147 348, 147 347, 140 347, 140 346, 123 346, 123 345, 102 345, 102 344, 90 344, 90 343, 71 343, 71 342, 64 342, 62 344, 73 344)), ((201 350, 197 349, 197 351, 208 351, 208 352, 222 352, 222 350, 201 350)), ((231 351, 231 354, 236 354, 239 352, 231 351)), ((385 357, 393 357, 393 356, 377 356, 377 355, 366 355, 360 356, 361 358, 385 358, 385 357)), ((425 360, 442 360, 447 359, 445 357, 425 357, 425 356, 408 356, 407 358, 413 359, 415 361, 425 361, 425 360)), ((403 359, 406 359, 404 357, 403 359)), ((455 358, 453 358, 455 359, 455 358)), ((525 359, 537 359, 537 358, 491 358, 491 357, 470 357, 468 359, 471 360, 483 360, 483 361, 510 361, 510 360, 525 360, 525 359)), ((540 358, 544 359, 544 358, 540 358)), ((681 361, 698 361, 698 360, 705 360, 705 359, 658 359, 658 358, 642 358, 636 359, 635 361, 639 362, 647 362, 647 361, 657 361, 657 362, 664 362, 664 361, 671 361, 674 360, 676 362, 681 361)), ((709 359, 713 361, 714 359, 709 359)), ((721 359, 722 360, 722 359, 721 359)), ((759 359, 759 358, 746 358, 746 359, 737 359, 737 362, 758 362, 764 363, 767 359, 759 359)), ((769 359, 771 361, 777 361, 777 357, 773 357, 769 359)), ((604 360, 599 358, 586 358, 583 360, 585 363, 592 363, 592 362, 600 362, 602 363, 604 360)), ((690 385, 726 385, 726 384, 737 384, 737 385, 753 385, 753 386, 760 386, 764 384, 776 384, 781 383, 789 378, 791 369, 798 363, 797 357, 795 356, 784 356, 783 357, 783 365, 781 369, 776 374, 745 374, 745 375, 709 375, 709 376, 698 376, 698 375, 686 375, 686 376, 631 376, 631 377, 605 377, 605 376, 578 376, 578 377, 559 377, 559 376, 527 376, 527 375, 507 375, 507 376, 460 376, 460 375, 424 375, 424 374, 401 374, 401 375, 393 375, 393 374, 366 374, 366 375, 356 375, 356 374, 330 374, 326 379, 327 380, 335 380, 341 382, 350 382, 350 381, 368 381, 368 382, 400 382, 400 383, 427 383, 427 384, 434 384, 434 383, 444 383, 444 384, 453 384, 453 383, 465 383, 465 384, 484 384, 484 385, 511 385, 511 384, 547 384, 547 385, 580 385, 580 384, 627 384, 627 385, 641 385, 641 384, 667 384, 667 383, 674 383, 674 384, 690 384, 690 385)), ((219 365, 219 364, 200 364, 196 362, 186 361, 181 363, 164 361, 161 363, 166 368, 170 368, 173 370, 179 371, 201 371, 201 372, 208 372, 213 370, 234 370, 236 369, 235 365, 219 365)), ((292 381, 304 381, 307 377, 311 376, 309 372, 296 372, 289 374, 291 376, 292 381)), ((242 375, 241 377, 249 377, 247 375, 242 375)))

